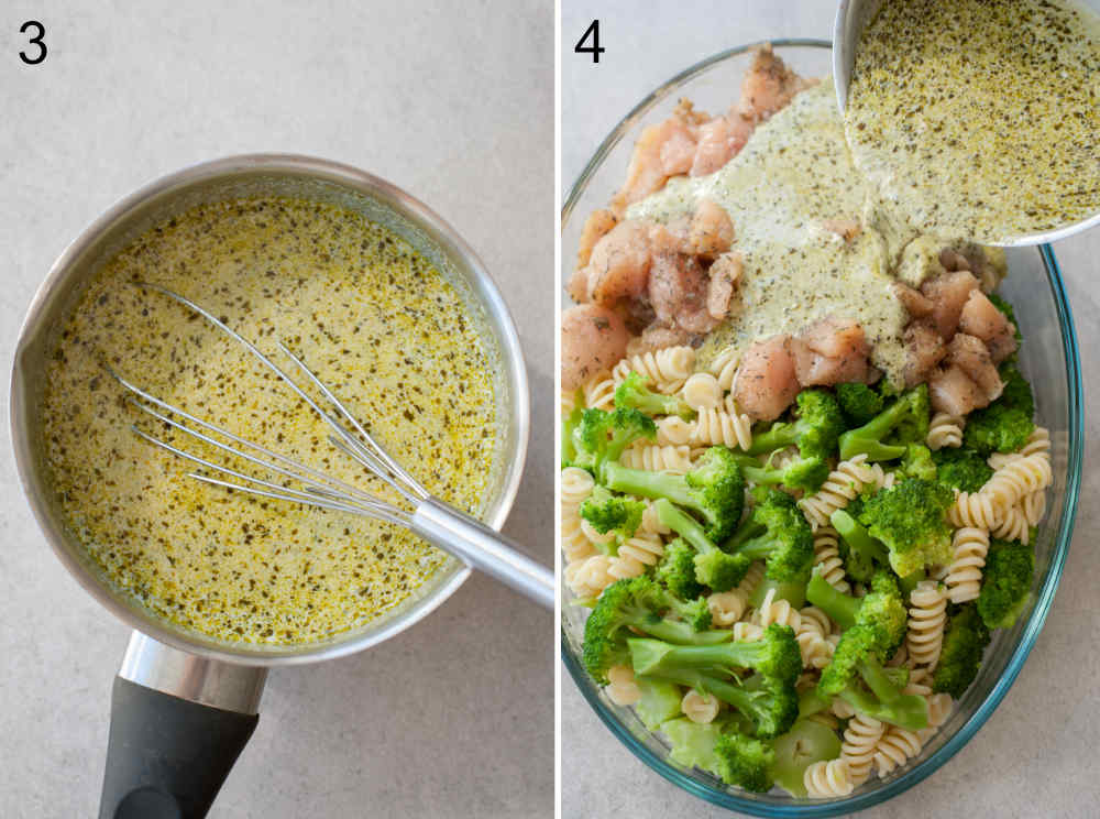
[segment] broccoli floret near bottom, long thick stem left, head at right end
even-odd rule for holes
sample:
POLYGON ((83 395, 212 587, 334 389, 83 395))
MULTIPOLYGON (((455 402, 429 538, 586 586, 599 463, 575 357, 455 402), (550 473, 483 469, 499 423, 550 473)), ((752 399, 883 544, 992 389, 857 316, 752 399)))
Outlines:
POLYGON ((630 638, 630 657, 635 674, 642 677, 656 676, 694 688, 703 694, 712 694, 724 702, 736 708, 754 725, 754 733, 762 739, 778 736, 794 723, 799 716, 799 695, 794 689, 795 680, 801 671, 801 655, 796 662, 791 660, 798 653, 798 641, 790 626, 772 624, 768 627, 765 638, 755 643, 770 643, 761 649, 748 649, 754 643, 729 643, 741 646, 728 656, 669 655, 667 643, 658 640, 630 638), (792 652, 793 647, 793 652, 792 652), (748 677, 737 674, 732 667, 736 662, 756 662, 773 671, 763 674, 756 671, 748 677), (793 673, 792 673, 793 671, 793 673))

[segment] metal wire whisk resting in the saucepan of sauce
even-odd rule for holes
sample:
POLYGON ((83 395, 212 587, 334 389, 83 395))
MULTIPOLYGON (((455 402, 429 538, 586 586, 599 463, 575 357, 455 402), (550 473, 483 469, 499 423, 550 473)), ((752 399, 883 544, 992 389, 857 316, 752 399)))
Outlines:
POLYGON ((217 463, 173 446, 145 433, 136 425, 132 427, 134 433, 151 444, 155 444, 162 449, 166 449, 173 455, 185 458, 212 472, 212 474, 190 472, 189 476, 191 478, 263 498, 274 498, 280 501, 304 503, 337 512, 364 515, 404 526, 435 546, 454 555, 466 565, 481 569, 547 608, 553 608, 554 582, 551 571, 520 554, 515 545, 498 532, 460 512, 438 498, 433 498, 419 481, 386 452, 351 412, 349 412, 340 398, 286 345, 279 341, 279 350, 317 387, 324 396, 324 400, 336 410, 336 413, 322 407, 286 371, 257 349, 255 345, 240 336, 199 305, 157 284, 145 282, 136 282, 135 284, 175 299, 202 316, 202 318, 233 340, 243 345, 249 352, 278 375, 287 386, 306 401, 324 419, 332 430, 332 434, 329 435, 329 441, 334 447, 385 481, 408 503, 410 510, 383 501, 359 487, 324 474, 294 458, 280 455, 255 441, 234 435, 216 424, 196 417, 179 407, 157 398, 155 395, 127 381, 119 373, 110 371, 111 375, 122 386, 133 393, 135 397, 132 397, 132 402, 142 412, 196 440, 200 440, 233 457, 241 458, 270 473, 288 478, 301 487, 301 489, 262 480, 233 469, 228 465, 217 463), (155 407, 164 412, 160 412, 155 407), (207 433, 213 433, 226 440, 232 441, 232 444, 219 440, 207 433), (216 477, 217 474, 224 477, 219 478, 216 477))

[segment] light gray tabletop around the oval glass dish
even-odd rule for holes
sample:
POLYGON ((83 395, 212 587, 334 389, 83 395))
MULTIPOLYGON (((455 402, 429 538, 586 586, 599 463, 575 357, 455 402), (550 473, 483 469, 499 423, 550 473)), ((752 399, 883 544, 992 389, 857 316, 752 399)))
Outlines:
MULTIPOLYGON (((697 59, 766 37, 828 39, 827 0, 740 0, 638 4, 562 3, 562 193, 608 131, 641 97, 697 59), (657 6, 651 4, 651 6, 657 6), (691 11, 684 9, 690 7, 691 11), (607 52, 598 66, 573 44, 600 18, 607 52)), ((736 95, 736 89, 732 89, 736 95)), ((565 254, 573 249, 565 248, 565 254)), ((1060 242, 1080 336, 1086 390, 1100 378, 1100 231, 1060 242)), ((1044 285, 1045 286, 1045 285, 1044 285)), ((1046 627, 1012 690, 978 735, 946 766, 867 817, 1094 817, 1100 804, 1094 745, 1100 733, 1096 692, 1100 658, 1100 479, 1088 467, 1100 429, 1088 401, 1086 477, 1077 534, 1046 627)), ((733 816, 649 771, 596 718, 569 675, 562 675, 562 816, 666 819, 733 816)))

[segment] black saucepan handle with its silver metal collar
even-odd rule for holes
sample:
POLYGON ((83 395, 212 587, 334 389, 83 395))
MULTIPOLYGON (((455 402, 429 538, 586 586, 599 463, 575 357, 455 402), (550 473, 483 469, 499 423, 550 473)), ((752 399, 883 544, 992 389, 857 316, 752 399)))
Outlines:
POLYGON ((99 819, 201 819, 256 729, 266 669, 134 632, 114 678, 99 819))

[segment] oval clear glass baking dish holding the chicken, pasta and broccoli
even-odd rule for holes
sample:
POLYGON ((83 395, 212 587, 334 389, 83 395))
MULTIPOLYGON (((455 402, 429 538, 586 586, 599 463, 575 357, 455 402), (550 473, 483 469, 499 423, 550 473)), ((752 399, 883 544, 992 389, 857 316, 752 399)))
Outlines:
MULTIPOLYGON (((773 41, 776 52, 804 76, 829 73, 829 44, 820 40, 773 41)), ((716 54, 670 79, 644 99, 604 140, 581 173, 562 209, 562 279, 572 272, 586 216, 603 207, 625 178, 634 143, 644 124, 668 117, 681 97, 710 111, 725 110, 737 95, 751 45, 716 54)), ((604 723, 640 760, 664 778, 714 805, 765 817, 824 817, 878 805, 921 782, 947 762, 989 719, 1015 680, 1046 619, 1069 550, 1081 478, 1082 392, 1077 337, 1062 274, 1049 245, 1009 252, 1010 275, 1002 293, 1015 307, 1024 335, 1022 368, 1035 389, 1037 417, 1054 443, 1054 488, 1035 542, 1035 593, 1009 631, 996 634, 978 679, 956 705, 955 713, 910 764, 886 779, 873 778, 850 796, 799 800, 787 795, 750 794, 728 788, 697 768, 669 760, 663 740, 650 733, 629 708, 615 706, 580 660, 585 610, 568 605, 563 590, 562 657, 585 699, 604 723)), ((568 297, 565 297, 568 301, 568 297)), ((568 753, 569 738, 564 738, 568 753)), ((595 761, 594 761, 595 762, 595 761)), ((596 763, 598 764, 598 763, 596 763)))

